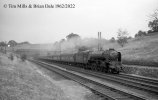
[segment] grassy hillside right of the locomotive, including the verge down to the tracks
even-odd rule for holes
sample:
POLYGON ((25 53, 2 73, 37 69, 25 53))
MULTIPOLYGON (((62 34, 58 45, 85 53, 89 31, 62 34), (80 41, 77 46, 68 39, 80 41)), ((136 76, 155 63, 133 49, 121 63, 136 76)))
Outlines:
POLYGON ((118 50, 122 53, 125 73, 158 78, 158 33, 132 39, 118 50))

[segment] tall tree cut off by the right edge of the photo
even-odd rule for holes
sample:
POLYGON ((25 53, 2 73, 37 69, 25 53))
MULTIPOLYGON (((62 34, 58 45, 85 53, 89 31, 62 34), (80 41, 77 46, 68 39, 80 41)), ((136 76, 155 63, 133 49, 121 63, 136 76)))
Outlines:
POLYGON ((151 19, 148 23, 148 27, 153 32, 158 32, 158 9, 156 9, 155 12, 150 17, 151 19))

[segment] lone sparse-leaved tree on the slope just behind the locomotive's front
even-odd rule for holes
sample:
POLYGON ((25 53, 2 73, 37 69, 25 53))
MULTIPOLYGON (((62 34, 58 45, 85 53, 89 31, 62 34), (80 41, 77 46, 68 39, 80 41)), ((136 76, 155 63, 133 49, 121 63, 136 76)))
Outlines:
POLYGON ((118 36, 117 36, 117 43, 119 44, 119 45, 121 45, 121 47, 123 47, 126 43, 128 43, 127 42, 127 40, 128 40, 128 32, 126 31, 126 30, 122 30, 122 29, 119 29, 118 30, 118 36))

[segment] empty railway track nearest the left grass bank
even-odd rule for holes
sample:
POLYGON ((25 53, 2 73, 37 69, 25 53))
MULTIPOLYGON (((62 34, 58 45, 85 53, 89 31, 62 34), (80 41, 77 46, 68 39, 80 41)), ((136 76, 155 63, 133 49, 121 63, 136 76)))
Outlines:
MULTIPOLYGON (((151 98, 144 97, 143 95, 139 95, 134 92, 129 92, 128 90, 117 88, 116 86, 109 86, 107 84, 104 84, 103 81, 89 78, 89 76, 76 73, 75 71, 67 70, 66 68, 61 68, 56 65, 48 64, 45 62, 39 62, 35 60, 31 60, 31 61, 40 64, 41 66, 44 66, 49 70, 56 71, 57 73, 60 73, 82 84, 83 86, 89 88, 93 92, 104 97, 105 100, 107 100, 107 98, 108 100, 152 100, 151 98)), ((91 75, 91 77, 94 77, 94 75, 93 76, 91 75)))

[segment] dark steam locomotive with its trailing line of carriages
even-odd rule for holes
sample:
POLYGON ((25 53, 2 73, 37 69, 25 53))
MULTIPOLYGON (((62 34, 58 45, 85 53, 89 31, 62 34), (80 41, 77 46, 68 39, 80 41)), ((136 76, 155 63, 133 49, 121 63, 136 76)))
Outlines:
POLYGON ((75 54, 61 54, 45 58, 58 63, 74 65, 84 69, 119 73, 122 69, 121 53, 109 49, 105 51, 84 51, 75 54))

